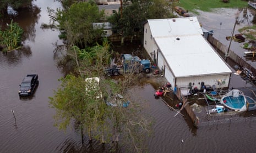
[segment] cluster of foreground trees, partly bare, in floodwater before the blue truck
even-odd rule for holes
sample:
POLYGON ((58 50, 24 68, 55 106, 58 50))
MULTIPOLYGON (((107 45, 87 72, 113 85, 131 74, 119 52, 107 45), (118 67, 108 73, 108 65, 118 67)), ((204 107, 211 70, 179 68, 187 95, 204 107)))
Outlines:
POLYGON ((58 88, 54 97, 50 98, 50 106, 56 109, 56 126, 59 129, 66 129, 70 122, 75 120, 79 123, 82 138, 85 133, 90 140, 96 139, 101 143, 112 144, 113 149, 122 145, 132 152, 141 152, 144 149, 141 138, 148 135, 150 120, 140 114, 141 107, 133 101, 129 107, 123 107, 131 96, 127 91, 137 84, 138 77, 133 73, 127 73, 119 81, 106 79, 104 69, 110 63, 111 52, 107 40, 104 39, 102 42, 102 45, 97 44, 86 49, 74 46, 70 50, 73 52, 68 53, 77 64, 80 75, 62 78, 61 88, 58 88), (92 84, 95 83, 85 81, 86 78, 95 76, 101 78, 100 88, 93 88, 92 84), (91 93, 91 90, 94 92, 91 93), (116 98, 118 94, 123 95, 123 99, 116 98), (106 101, 110 101, 116 107, 107 106, 106 101))

